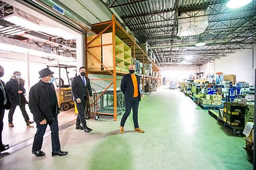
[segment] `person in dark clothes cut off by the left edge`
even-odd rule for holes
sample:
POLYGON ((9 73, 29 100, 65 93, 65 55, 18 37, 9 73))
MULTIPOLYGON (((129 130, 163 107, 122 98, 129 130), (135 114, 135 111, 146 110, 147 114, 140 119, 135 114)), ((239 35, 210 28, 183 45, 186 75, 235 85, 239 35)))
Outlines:
MULTIPOLYGON (((5 74, 4 68, 0 65, 0 78, 5 74)), ((9 110, 11 108, 11 101, 9 99, 7 90, 5 88, 5 83, 0 80, 0 152, 9 149, 9 144, 3 144, 2 142, 2 132, 4 127, 4 115, 5 109, 9 110)))

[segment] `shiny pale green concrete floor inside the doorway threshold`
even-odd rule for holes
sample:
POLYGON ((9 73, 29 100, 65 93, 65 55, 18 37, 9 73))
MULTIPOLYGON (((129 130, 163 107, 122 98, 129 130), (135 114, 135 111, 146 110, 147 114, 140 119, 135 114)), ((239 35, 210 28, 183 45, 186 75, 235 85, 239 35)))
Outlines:
POLYGON ((67 156, 51 157, 48 136, 45 157, 32 155, 30 144, 0 159, 0 169, 252 169, 244 139, 231 135, 178 90, 161 86, 140 102, 139 125, 145 134, 133 131, 131 115, 120 134, 120 119, 89 120, 91 133, 75 125, 61 130, 67 156))

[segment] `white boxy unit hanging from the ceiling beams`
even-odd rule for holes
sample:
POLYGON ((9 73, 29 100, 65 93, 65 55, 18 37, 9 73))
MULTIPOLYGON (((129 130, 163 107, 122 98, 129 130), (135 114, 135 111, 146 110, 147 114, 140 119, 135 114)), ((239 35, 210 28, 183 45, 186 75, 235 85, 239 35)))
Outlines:
POLYGON ((181 13, 179 18, 177 36, 180 37, 200 35, 208 27, 208 16, 204 10, 181 13))

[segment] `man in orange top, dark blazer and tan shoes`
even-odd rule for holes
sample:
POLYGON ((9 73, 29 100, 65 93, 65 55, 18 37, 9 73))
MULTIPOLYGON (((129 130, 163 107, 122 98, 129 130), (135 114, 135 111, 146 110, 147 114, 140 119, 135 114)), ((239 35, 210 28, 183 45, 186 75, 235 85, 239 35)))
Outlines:
POLYGON ((133 123, 134 130, 140 133, 144 133, 139 128, 138 124, 138 108, 140 101, 140 77, 135 75, 135 65, 129 65, 130 74, 124 75, 121 81, 121 90, 125 99, 125 113, 121 119, 120 133, 124 133, 123 127, 127 117, 130 115, 133 108, 133 123))

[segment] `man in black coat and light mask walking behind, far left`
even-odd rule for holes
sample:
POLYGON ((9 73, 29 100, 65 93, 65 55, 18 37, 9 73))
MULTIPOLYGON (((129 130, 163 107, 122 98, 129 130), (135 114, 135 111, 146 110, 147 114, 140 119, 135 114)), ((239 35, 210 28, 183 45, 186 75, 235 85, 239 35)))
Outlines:
POLYGON ((24 96, 24 93, 26 92, 26 90, 24 88, 24 85, 19 82, 20 78, 21 78, 20 72, 14 71, 13 76, 6 83, 6 89, 7 89, 9 98, 11 100, 11 108, 10 108, 9 114, 8 114, 8 121, 9 121, 8 126, 10 128, 14 127, 14 125, 12 123, 12 120, 13 120, 12 118, 13 118, 13 114, 14 114, 14 111, 17 106, 19 106, 20 110, 22 111, 22 115, 24 117, 24 120, 25 120, 27 126, 34 123, 34 122, 29 121, 29 116, 25 109, 25 105, 26 105, 27 101, 24 96))

